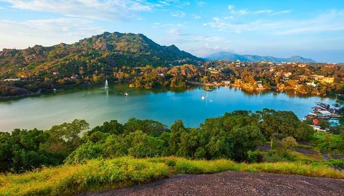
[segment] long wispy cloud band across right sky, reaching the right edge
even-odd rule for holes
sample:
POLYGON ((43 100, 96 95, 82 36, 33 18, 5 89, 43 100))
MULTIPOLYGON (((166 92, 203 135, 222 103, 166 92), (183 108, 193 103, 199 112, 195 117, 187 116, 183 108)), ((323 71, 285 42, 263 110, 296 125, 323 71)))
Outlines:
POLYGON ((317 33, 325 31, 344 30, 344 21, 338 20, 344 17, 344 10, 321 14, 314 19, 308 20, 279 20, 262 21, 256 20, 247 23, 226 21, 226 18, 214 17, 210 23, 203 24, 222 31, 240 33, 242 31, 265 31, 273 34, 298 34, 317 33))

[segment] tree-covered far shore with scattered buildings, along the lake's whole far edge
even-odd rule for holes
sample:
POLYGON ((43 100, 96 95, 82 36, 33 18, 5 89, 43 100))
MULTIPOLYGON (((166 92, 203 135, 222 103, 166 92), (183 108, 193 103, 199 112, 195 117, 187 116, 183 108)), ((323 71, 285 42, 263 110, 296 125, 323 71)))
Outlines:
MULTIPOLYGON (((169 67, 114 67, 112 70, 79 71, 43 70, 34 75, 20 74, 18 78, 5 78, 6 86, 25 88, 32 92, 53 90, 61 86, 103 82, 129 82, 130 87, 154 88, 158 86, 187 87, 188 84, 207 86, 234 86, 247 90, 292 91, 295 94, 344 94, 344 65, 336 63, 297 62, 234 62, 205 61, 199 65, 170 65, 169 67)), ((15 92, 15 89, 7 91, 15 92)), ((6 90, 3 90, 6 92, 6 90)), ((5 96, 6 93, 3 93, 5 96)), ((10 93, 9 93, 10 94, 10 93)))

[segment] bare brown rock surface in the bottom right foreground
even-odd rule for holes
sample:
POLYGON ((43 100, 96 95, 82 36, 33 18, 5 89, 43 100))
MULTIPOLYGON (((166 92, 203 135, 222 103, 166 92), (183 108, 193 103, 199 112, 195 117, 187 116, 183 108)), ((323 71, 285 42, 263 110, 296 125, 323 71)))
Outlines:
POLYGON ((78 196, 343 196, 344 180, 273 173, 177 174, 129 188, 78 196))

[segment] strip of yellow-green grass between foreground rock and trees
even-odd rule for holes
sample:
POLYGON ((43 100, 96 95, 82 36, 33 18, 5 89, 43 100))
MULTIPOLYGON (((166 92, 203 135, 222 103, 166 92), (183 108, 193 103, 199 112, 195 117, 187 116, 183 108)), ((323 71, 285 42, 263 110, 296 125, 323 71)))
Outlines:
POLYGON ((0 175, 0 196, 68 196, 147 183, 174 173, 217 173, 223 171, 271 172, 344 179, 344 173, 324 165, 301 163, 235 163, 188 160, 179 157, 134 159, 122 157, 90 160, 84 165, 45 168, 23 174, 0 175))

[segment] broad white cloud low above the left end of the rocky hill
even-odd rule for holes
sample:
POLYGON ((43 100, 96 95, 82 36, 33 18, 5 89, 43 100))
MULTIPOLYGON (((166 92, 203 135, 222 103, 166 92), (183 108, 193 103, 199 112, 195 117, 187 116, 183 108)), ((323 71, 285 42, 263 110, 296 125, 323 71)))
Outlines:
POLYGON ((72 18, 25 22, 0 20, 0 29, 0 48, 27 48, 35 44, 52 46, 61 42, 70 44, 104 32, 89 20, 72 18))

